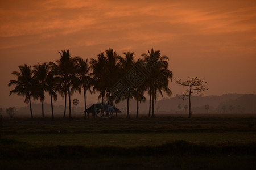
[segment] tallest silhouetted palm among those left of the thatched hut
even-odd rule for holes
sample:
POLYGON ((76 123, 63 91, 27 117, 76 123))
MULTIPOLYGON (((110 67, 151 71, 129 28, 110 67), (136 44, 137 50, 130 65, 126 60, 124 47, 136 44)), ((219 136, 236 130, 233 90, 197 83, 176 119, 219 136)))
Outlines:
MULTIPOLYGON (((76 79, 76 60, 71 57, 69 50, 67 52, 62 50, 60 54, 60 59, 57 60, 57 64, 51 62, 52 68, 56 75, 60 75, 61 79, 63 79, 63 87, 64 94, 68 94, 68 102, 69 102, 69 118, 71 118, 71 87, 73 82, 77 82, 76 79)), ((66 107, 66 102, 65 102, 66 107)), ((64 112, 65 115, 65 112, 64 112)))

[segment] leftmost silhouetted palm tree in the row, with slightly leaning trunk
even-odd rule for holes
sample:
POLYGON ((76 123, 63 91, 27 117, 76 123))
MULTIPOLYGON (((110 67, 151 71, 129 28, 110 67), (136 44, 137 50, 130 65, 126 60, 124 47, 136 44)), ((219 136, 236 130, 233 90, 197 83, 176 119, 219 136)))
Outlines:
POLYGON ((10 80, 8 86, 16 86, 14 90, 10 91, 10 95, 15 93, 19 96, 25 96, 26 103, 30 104, 30 117, 33 118, 32 107, 31 107, 31 96, 33 96, 35 91, 35 80, 32 78, 31 66, 26 64, 19 66, 18 71, 13 71, 13 75, 17 77, 17 80, 10 80))

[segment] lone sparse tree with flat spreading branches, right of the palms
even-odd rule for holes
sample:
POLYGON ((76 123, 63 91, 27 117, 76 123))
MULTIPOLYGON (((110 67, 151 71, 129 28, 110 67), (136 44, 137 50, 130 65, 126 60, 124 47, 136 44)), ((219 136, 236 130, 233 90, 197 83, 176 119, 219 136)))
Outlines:
POLYGON ((182 86, 187 86, 189 87, 187 90, 184 91, 183 95, 177 96, 179 99, 188 99, 188 104, 189 104, 189 117, 191 117, 192 112, 191 112, 191 94, 196 93, 196 94, 200 94, 200 92, 206 91, 208 90, 207 87, 204 86, 204 84, 206 83, 204 80, 199 80, 197 77, 195 78, 191 78, 189 77, 189 80, 187 81, 183 81, 181 79, 177 80, 175 79, 175 82, 177 84, 180 84, 182 86))

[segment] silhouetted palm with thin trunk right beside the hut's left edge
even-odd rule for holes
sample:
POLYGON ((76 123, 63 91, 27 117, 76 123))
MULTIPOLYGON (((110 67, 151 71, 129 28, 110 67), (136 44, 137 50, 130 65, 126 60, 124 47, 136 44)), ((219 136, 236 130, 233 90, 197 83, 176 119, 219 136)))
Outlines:
MULTIPOLYGON (((90 90, 90 86, 92 86, 92 78, 90 77, 90 71, 92 70, 89 67, 88 59, 84 61, 82 58, 76 58, 77 62, 77 75, 79 78, 79 87, 84 89, 84 111, 86 111, 86 91, 89 90, 90 94, 92 91, 90 90)), ((86 113, 84 114, 86 118, 86 113)))

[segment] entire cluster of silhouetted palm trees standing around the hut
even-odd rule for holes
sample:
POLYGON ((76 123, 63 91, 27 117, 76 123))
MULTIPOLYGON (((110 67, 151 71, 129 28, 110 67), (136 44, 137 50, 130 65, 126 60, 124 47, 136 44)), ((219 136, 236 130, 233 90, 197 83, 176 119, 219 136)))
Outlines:
MULTIPOLYGON (((51 100, 52 119, 54 119, 53 100, 58 96, 65 99, 63 117, 66 115, 68 100, 69 118, 71 113, 71 95, 75 92, 84 95, 84 110, 86 110, 87 93, 99 93, 101 103, 107 100, 114 105, 126 100, 126 114, 129 116, 129 100, 137 100, 137 117, 139 103, 149 99, 149 117, 155 117, 154 103, 158 95, 165 92, 171 96, 168 84, 172 81, 172 71, 168 70, 167 56, 162 56, 159 50, 151 49, 141 55, 137 61, 134 53, 126 52, 119 56, 113 49, 100 52, 96 59, 71 57, 69 50, 59 52, 60 58, 55 62, 20 65, 19 71, 13 71, 16 80, 10 80, 8 86, 15 86, 11 94, 24 96, 24 102, 30 105, 30 116, 33 117, 31 100, 42 102, 42 117, 44 117, 44 100, 46 93, 51 100), (152 109, 152 110, 151 110, 152 109)), ((85 114, 86 118, 86 114, 85 114)))

